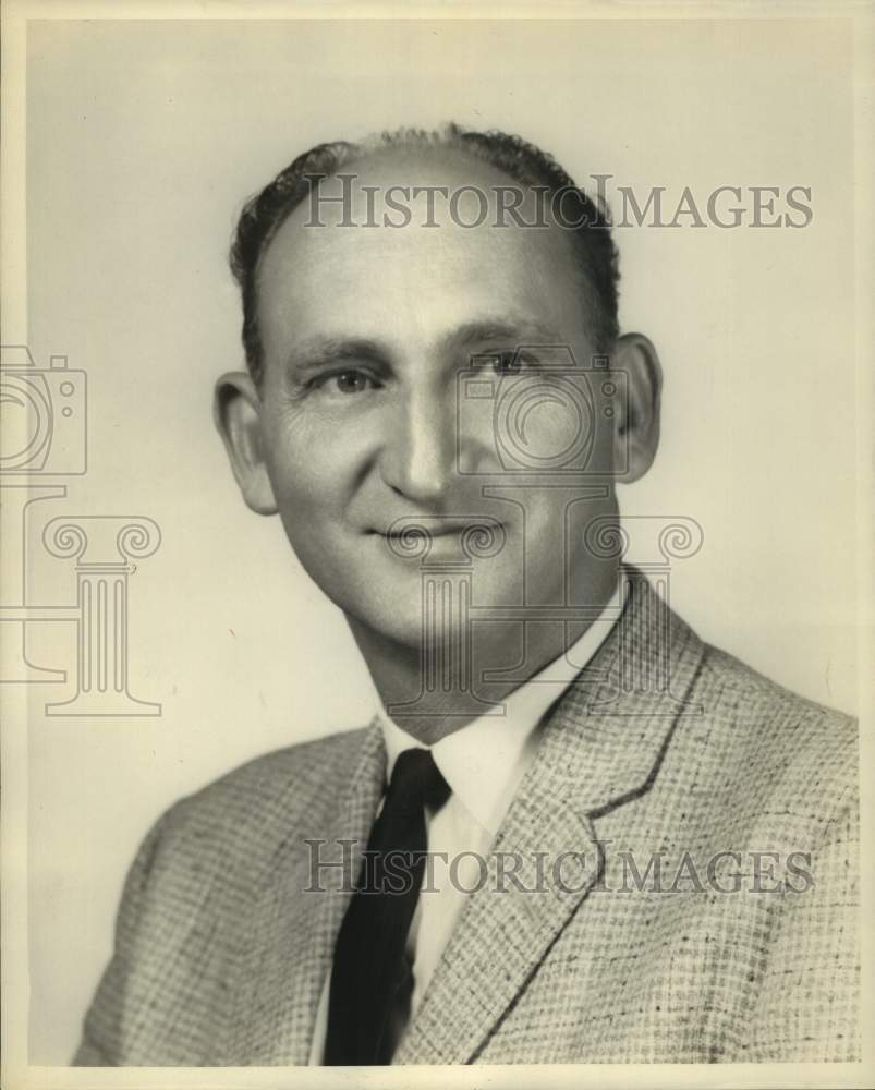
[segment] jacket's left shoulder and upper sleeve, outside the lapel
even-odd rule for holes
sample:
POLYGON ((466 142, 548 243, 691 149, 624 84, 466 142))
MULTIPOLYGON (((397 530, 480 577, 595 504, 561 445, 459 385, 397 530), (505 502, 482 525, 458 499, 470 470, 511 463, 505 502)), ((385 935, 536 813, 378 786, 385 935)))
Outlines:
POLYGON ((203 1062, 233 949, 259 882, 290 837, 332 806, 366 729, 267 753, 181 799, 155 823, 127 873, 113 957, 85 1021, 77 1065, 203 1062), (205 966, 209 968, 205 972, 205 966), (175 988, 177 991, 172 991, 175 988), (161 993, 163 990, 163 993, 161 993), (165 994, 167 1008, 156 1005, 165 994))

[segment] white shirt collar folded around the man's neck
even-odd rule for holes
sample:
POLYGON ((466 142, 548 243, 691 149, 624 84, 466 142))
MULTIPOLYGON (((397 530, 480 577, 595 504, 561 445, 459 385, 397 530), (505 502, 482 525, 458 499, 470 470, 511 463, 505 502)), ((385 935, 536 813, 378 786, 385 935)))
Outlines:
POLYGON ((481 715, 429 747, 390 719, 378 700, 387 779, 404 750, 430 749, 455 798, 495 836, 535 754, 538 724, 604 643, 617 617, 615 600, 619 593, 619 589, 615 591, 600 615, 563 655, 505 698, 503 715, 481 715))

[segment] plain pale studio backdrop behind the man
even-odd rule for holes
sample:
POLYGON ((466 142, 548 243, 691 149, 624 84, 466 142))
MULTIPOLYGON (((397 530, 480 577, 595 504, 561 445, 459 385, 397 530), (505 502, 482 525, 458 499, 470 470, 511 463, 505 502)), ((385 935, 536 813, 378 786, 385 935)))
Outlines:
MULTIPOLYGON (((31 1059, 65 1064, 124 872, 182 794, 363 724, 342 617, 276 519, 240 500, 210 419, 242 365, 226 254, 242 201, 314 143, 454 119, 519 132, 639 194, 811 186, 803 230, 619 230, 621 323, 666 373, 663 444, 628 513, 686 514, 672 605, 709 642, 853 711, 851 38, 838 22, 31 23, 29 346, 89 382, 89 471, 38 505, 32 601, 72 602, 57 514, 143 514, 131 691, 158 718, 29 727, 31 1059), (39 507, 42 510, 39 510, 39 507)), ((744 202, 750 207, 750 198, 744 202)), ((72 626, 70 626, 72 628, 72 626)), ((32 658, 73 669, 72 633, 32 658)))

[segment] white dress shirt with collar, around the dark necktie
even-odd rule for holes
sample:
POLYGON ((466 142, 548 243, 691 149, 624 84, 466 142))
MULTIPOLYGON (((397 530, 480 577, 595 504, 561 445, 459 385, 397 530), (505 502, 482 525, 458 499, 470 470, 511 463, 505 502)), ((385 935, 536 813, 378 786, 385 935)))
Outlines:
MULTIPOLYGON (((466 897, 484 881, 477 857, 486 859, 488 856, 520 780, 532 763, 538 743, 537 727, 547 710, 605 641, 617 616, 616 597, 617 592, 598 619, 566 654, 505 698, 503 715, 482 715, 434 746, 424 746, 402 730, 389 718, 377 698, 377 717, 386 744, 387 782, 404 750, 430 749, 452 792, 436 813, 426 811, 430 873, 426 870, 408 935, 408 955, 413 968, 411 1018, 422 1002, 466 897), (446 862, 440 853, 446 855, 446 862)), ((308 1063, 312 1066, 323 1062, 330 983, 329 970, 311 1044, 308 1063)))

